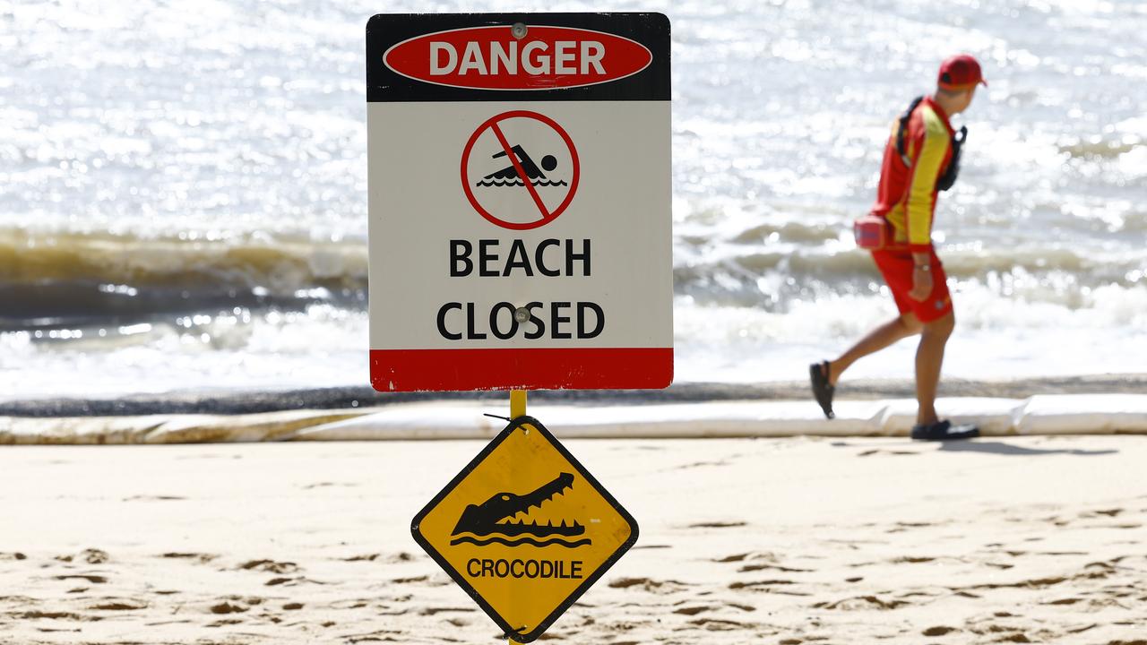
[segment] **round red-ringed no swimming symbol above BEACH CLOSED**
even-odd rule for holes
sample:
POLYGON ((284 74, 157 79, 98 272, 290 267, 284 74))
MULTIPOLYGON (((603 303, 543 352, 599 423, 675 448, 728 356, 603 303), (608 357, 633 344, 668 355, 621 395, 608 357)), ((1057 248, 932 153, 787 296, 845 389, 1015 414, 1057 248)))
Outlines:
POLYGON ((537 228, 556 219, 574 201, 579 177, 574 140, 555 121, 533 111, 491 117, 462 151, 467 200, 502 228, 537 228))

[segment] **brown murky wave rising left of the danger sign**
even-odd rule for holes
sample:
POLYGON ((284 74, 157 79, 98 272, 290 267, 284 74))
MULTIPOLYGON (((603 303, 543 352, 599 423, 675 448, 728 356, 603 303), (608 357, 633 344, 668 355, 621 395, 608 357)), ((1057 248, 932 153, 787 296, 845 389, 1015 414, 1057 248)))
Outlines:
POLYGON ((0 230, 0 331, 314 302, 365 309, 366 287, 361 241, 0 230))

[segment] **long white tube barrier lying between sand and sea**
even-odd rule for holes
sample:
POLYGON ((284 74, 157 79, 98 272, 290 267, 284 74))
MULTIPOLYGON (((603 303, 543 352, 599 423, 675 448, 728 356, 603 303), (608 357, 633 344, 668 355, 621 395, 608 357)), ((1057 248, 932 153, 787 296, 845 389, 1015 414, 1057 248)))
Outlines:
MULTIPOLYGON (((825 419, 809 401, 555 404, 532 412, 564 438, 907 436, 907 398, 836 402, 825 419)), ((942 418, 974 422, 984 436, 1147 434, 1147 395, 952 397, 942 418)), ((252 414, 0 417, 0 444, 165 444, 275 441, 489 440, 506 425, 491 402, 427 401, 374 409, 252 414)))

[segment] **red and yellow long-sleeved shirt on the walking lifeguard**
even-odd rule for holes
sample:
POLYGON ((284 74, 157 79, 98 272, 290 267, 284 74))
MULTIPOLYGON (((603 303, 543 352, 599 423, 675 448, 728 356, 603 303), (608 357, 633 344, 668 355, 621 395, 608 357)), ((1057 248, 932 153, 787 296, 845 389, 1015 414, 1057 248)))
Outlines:
POLYGON ((952 161, 954 132, 944 110, 931 96, 924 96, 908 117, 904 139, 911 163, 905 168, 896 149, 898 125, 899 122, 892 125, 892 134, 884 146, 880 187, 872 212, 892 224, 896 246, 907 244, 911 251, 924 252, 931 249, 936 180, 952 161))

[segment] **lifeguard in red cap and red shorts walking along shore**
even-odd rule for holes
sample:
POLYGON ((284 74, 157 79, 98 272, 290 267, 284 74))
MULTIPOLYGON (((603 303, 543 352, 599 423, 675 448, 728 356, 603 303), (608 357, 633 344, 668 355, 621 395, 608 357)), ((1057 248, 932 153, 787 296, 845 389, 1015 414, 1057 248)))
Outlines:
MULTIPOLYGON (((944 265, 931 240, 936 197, 955 181, 963 141, 949 118, 972 104, 980 85, 988 83, 974 57, 960 54, 945 60, 939 67, 936 93, 913 101, 884 143, 876 203, 864 218, 875 220, 883 231, 868 235, 858 228, 857 240, 861 248, 872 250, 899 316, 869 332, 835 360, 809 366, 812 395, 829 419, 834 417, 836 383, 849 366, 900 339, 920 335, 915 360, 919 405, 912 438, 944 441, 980 435, 973 425, 954 425, 936 414, 944 347, 955 327, 955 317, 944 265)), ((967 130, 960 130, 967 134, 967 130)))

